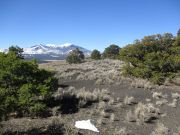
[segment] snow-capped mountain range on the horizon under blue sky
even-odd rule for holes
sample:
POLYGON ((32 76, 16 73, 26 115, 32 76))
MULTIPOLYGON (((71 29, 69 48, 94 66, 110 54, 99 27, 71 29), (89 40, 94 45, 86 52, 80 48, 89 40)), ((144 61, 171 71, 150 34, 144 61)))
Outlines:
MULTIPOLYGON (((78 45, 74 45, 71 43, 65 43, 62 45, 54 45, 54 44, 39 44, 34 45, 30 48, 23 48, 23 55, 26 59, 36 58, 38 60, 63 60, 67 57, 69 52, 78 48, 80 51, 84 53, 85 56, 90 56, 91 51, 80 47, 78 45)), ((7 52, 8 49, 0 49, 0 52, 7 52)))

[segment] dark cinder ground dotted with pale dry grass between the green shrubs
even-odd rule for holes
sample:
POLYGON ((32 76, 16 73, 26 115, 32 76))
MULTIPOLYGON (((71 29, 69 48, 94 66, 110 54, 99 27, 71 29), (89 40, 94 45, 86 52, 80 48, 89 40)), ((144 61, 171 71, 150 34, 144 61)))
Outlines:
MULTIPOLYGON (((147 80, 123 77, 123 64, 119 60, 105 59, 86 60, 81 64, 52 61, 41 63, 39 67, 55 71, 59 91, 105 94, 103 100, 74 113, 58 114, 78 134, 180 135, 180 88, 171 83, 158 86, 147 80), (75 121, 87 119, 99 133, 74 127, 75 121)), ((88 95, 86 98, 88 100, 88 95)), ((8 126, 8 122, 3 125, 8 126)))

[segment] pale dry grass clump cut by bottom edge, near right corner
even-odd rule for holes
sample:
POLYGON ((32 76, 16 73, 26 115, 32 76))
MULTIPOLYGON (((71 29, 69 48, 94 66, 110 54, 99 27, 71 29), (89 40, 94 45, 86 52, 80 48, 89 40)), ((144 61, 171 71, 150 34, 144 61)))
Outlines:
POLYGON ((169 135, 169 129, 162 123, 158 123, 151 135, 169 135))

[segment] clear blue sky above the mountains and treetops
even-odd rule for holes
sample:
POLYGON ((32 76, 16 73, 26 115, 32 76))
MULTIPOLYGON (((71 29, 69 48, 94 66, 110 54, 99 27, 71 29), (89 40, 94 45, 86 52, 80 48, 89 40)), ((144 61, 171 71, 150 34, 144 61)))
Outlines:
POLYGON ((0 48, 70 42, 103 51, 180 28, 180 0, 0 0, 0 48))

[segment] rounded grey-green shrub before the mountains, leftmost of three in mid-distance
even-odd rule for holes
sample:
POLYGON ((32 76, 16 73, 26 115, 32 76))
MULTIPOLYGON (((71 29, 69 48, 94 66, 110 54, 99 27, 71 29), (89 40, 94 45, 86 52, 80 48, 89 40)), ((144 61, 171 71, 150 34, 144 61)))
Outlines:
POLYGON ((81 63, 84 60, 84 54, 78 48, 69 53, 66 58, 68 63, 81 63))

